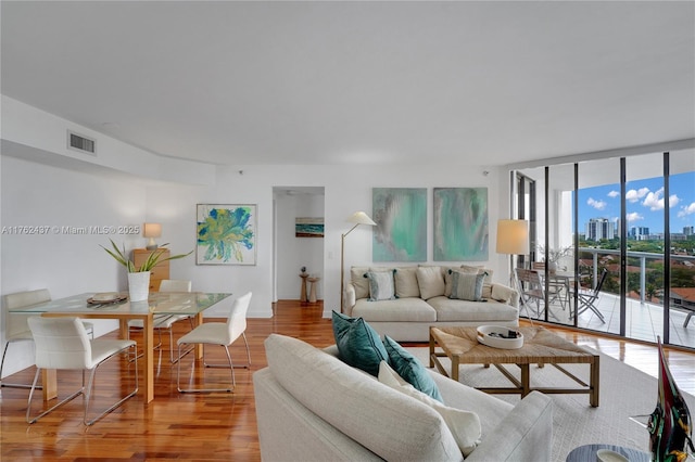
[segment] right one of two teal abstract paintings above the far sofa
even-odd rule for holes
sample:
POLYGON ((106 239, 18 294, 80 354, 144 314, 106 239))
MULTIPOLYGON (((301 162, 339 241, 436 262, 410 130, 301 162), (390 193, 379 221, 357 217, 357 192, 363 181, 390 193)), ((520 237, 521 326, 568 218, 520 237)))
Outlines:
POLYGON ((434 261, 488 260, 488 188, 434 188, 434 261))

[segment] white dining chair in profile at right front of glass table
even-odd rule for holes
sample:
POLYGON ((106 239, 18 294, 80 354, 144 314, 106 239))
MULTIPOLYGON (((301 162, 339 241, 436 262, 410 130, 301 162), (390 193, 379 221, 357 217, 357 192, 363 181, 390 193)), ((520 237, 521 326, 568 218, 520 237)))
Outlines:
MULTIPOLYGON (((235 378, 235 365, 229 354, 229 346, 239 337, 243 337, 247 346, 247 364, 238 365, 238 368, 249 368, 251 365, 251 351, 249 350, 249 342, 247 342, 247 312, 251 303, 251 292, 237 298, 229 310, 227 322, 203 322, 188 334, 178 339, 178 355, 181 357, 181 348, 187 345, 203 346, 203 364, 205 368, 229 368, 231 371, 231 386, 225 388, 181 388, 181 360, 178 361, 176 372, 176 386, 181 393, 203 393, 203 392, 227 392, 230 393, 237 386, 235 378), (228 364, 207 364, 205 362, 205 345, 219 345, 225 348, 228 364)), ((189 349, 190 351, 190 349, 189 349)), ((193 368, 195 359, 193 359, 193 368)))

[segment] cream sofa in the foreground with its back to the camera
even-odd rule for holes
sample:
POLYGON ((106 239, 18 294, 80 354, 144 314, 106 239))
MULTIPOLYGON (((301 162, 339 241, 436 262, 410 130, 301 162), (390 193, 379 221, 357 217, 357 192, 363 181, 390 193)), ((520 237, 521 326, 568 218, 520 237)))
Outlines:
MULTIPOLYGON (((460 461, 442 416, 419 400, 353 369, 338 349, 271 334, 268 367, 253 374, 265 462, 460 461)), ((467 461, 551 459, 552 400, 533 392, 516 406, 428 371, 444 403, 476 412, 480 444, 467 461)))

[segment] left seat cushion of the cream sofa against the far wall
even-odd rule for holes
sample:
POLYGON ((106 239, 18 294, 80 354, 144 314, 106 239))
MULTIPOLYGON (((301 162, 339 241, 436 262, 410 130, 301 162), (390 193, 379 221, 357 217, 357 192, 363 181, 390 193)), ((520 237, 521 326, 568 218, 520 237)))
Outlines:
POLYGON ((395 300, 368 301, 357 300, 352 308, 352 316, 362 317, 365 321, 397 322, 434 322, 437 311, 421 298, 397 298, 395 300))

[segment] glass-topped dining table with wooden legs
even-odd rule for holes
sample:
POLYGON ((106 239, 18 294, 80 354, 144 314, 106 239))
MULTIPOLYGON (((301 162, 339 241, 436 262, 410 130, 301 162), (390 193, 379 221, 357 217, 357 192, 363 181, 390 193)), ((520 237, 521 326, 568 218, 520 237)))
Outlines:
MULTIPOLYGON (((119 321, 119 337, 127 338, 128 321, 140 319, 143 324, 143 373, 141 387, 144 393, 144 403, 154 399, 154 315, 187 315, 194 319, 195 325, 203 322, 203 311, 211 308, 232 294, 206 292, 152 292, 148 300, 129 301, 127 293, 115 297, 112 303, 93 303, 94 293, 84 293, 66 298, 60 298, 28 307, 10 309, 11 313, 23 313, 43 317, 70 317, 80 319, 117 319, 119 321), (90 300, 90 301, 88 301, 90 300)), ((194 351, 197 358, 202 357, 202 348, 194 351)), ((54 370, 42 371, 43 399, 50 400, 58 396, 56 373, 54 370)))

